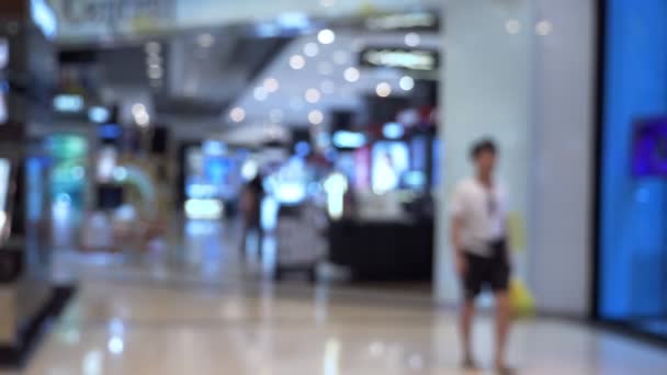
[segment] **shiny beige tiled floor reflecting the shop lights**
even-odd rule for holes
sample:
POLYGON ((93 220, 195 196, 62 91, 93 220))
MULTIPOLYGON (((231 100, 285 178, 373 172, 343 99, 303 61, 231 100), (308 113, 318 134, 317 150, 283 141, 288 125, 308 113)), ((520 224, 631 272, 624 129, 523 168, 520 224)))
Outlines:
MULTIPOLYGON (((181 261, 79 264, 81 291, 26 373, 465 374, 453 314, 428 296, 259 282, 221 230, 186 236, 181 261)), ((490 329, 481 318, 483 363, 490 329)), ((665 351, 551 320, 517 326, 511 361, 522 374, 667 374, 665 351)))

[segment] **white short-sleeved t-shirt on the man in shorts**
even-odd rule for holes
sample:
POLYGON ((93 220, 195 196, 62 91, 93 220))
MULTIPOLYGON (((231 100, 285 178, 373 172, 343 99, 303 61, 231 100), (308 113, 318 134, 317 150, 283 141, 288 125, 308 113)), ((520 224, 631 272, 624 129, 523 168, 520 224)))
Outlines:
POLYGON ((466 179, 456 185, 451 201, 452 217, 463 224, 461 246, 466 252, 491 257, 489 242, 507 237, 508 195, 497 183, 487 189, 477 179, 466 179))

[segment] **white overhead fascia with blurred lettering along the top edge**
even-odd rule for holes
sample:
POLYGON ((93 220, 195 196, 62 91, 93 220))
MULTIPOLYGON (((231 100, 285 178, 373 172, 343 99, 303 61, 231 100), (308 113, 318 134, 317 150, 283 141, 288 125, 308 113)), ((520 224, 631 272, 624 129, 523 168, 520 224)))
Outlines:
POLYGON ((242 23, 293 24, 425 9, 442 0, 48 0, 61 44, 113 43, 174 31, 242 23))

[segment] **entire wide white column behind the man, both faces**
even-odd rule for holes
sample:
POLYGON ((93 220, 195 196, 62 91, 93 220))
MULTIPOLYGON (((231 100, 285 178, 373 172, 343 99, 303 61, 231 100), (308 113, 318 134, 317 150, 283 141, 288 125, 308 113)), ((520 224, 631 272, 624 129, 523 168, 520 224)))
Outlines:
MULTIPOLYGON (((441 197, 467 173, 471 141, 497 138, 500 178, 527 228, 518 274, 542 312, 586 316, 590 303, 593 3, 451 0, 446 8, 441 197), (506 29, 510 19, 519 21, 516 35, 506 29), (551 25, 545 36, 536 33, 543 20, 551 25)), ((445 200, 439 214, 437 296, 452 302, 445 200)))

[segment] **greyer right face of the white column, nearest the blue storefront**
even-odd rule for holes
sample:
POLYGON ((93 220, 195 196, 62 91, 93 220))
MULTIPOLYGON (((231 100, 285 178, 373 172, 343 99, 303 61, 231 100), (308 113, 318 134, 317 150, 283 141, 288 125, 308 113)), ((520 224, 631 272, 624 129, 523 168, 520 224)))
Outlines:
POLYGON ((586 316, 593 197, 593 0, 536 0, 529 282, 542 311, 586 316))

